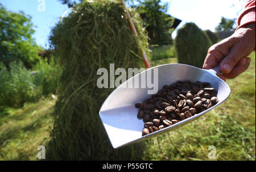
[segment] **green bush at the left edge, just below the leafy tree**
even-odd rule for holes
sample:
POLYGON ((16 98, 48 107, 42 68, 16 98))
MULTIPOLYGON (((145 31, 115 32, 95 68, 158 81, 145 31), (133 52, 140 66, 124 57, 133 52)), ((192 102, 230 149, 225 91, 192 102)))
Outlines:
POLYGON ((18 107, 38 98, 40 90, 23 63, 11 62, 9 67, 0 64, 0 105, 18 107))

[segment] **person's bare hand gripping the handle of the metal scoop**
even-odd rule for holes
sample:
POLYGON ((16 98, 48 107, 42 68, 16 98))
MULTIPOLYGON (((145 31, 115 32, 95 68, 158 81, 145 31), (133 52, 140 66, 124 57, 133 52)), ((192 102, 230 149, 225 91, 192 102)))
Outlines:
POLYGON ((251 59, 247 56, 255 49, 255 23, 239 28, 232 36, 212 45, 208 49, 203 69, 212 69, 220 64, 224 74, 218 75, 226 78, 236 78, 249 67, 251 59))

